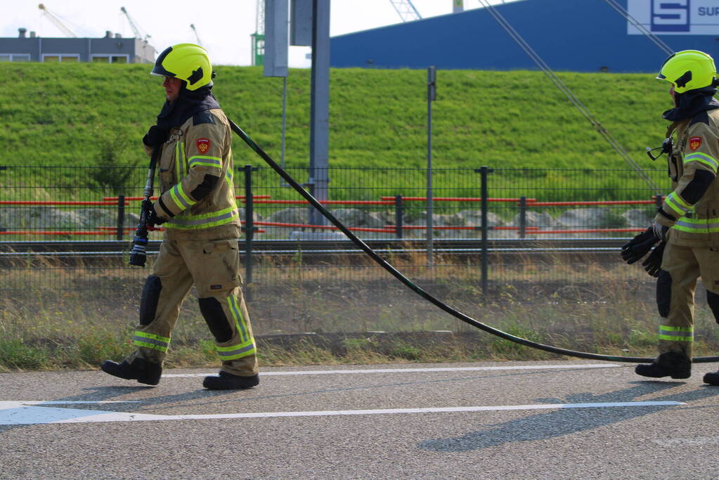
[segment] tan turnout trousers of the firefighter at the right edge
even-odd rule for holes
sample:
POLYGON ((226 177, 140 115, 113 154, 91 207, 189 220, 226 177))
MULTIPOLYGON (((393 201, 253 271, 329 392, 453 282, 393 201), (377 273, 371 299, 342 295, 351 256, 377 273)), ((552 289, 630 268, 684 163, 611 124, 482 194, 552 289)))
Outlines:
POLYGON ((680 246, 669 239, 656 281, 661 316, 659 354, 670 351, 692 359, 694 293, 697 279, 707 290, 707 303, 719 322, 719 249, 680 246))

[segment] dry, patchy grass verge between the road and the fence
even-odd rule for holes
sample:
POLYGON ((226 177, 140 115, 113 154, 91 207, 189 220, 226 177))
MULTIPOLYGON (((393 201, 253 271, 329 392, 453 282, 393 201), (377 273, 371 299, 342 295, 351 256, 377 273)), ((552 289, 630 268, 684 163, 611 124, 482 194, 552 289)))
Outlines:
MULTIPOLYGON (((90 280, 78 273, 75 290, 20 291, 1 300, 0 371, 88 369, 104 359, 122 359, 134 349, 130 340, 142 289, 132 279, 123 283, 122 274, 107 269, 104 277, 90 280)), ((610 271, 603 275, 605 281, 584 285, 508 281, 492 287, 487 305, 480 303, 480 285, 459 274, 425 288, 462 313, 514 336, 564 349, 654 356, 656 306, 646 300, 651 284, 613 281, 610 271)), ((331 281, 317 272, 314 279, 278 278, 250 293, 264 366, 567 359, 479 331, 387 275, 331 281)), ((719 335, 702 299, 697 299, 696 333, 695 354, 714 354, 719 335)), ((173 333, 168 367, 218 362, 190 297, 173 333)))

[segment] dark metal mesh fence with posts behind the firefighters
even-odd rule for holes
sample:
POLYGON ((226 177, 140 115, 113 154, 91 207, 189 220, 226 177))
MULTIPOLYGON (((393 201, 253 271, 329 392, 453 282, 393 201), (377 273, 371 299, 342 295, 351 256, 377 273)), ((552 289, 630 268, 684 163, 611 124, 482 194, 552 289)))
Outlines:
MULTIPOLYGON (((287 170, 313 190, 306 168, 287 170)), ((645 173, 668 187, 664 170, 645 173)), ((127 259, 146 175, 0 166, 0 292, 137 285, 149 269, 127 259)), ((644 278, 621 264, 618 246, 661 201, 631 170, 433 169, 430 203, 423 169, 333 167, 327 176, 321 200, 390 263, 426 285, 467 282, 484 295, 507 283, 644 278)), ((249 287, 387 280, 270 168, 238 166, 234 184, 249 287)), ((150 264, 161 235, 150 238, 150 264)))

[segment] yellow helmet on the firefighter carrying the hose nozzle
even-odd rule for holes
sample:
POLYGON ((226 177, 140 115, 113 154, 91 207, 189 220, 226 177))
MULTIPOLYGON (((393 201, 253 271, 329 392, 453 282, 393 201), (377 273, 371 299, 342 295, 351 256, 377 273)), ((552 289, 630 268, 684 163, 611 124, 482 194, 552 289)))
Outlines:
POLYGON ((184 80, 191 91, 212 83, 212 65, 207 50, 193 43, 167 47, 157 57, 150 74, 184 80))

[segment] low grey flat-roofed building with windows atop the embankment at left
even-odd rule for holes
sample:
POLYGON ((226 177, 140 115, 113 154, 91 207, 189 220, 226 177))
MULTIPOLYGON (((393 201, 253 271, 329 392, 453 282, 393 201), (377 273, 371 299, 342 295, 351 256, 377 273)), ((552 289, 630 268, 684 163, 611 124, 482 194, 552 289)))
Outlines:
POLYGON ((18 29, 14 38, 0 38, 0 61, 155 63, 155 48, 139 38, 106 32, 102 38, 43 38, 18 29))

